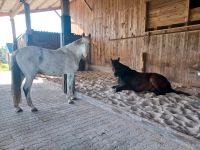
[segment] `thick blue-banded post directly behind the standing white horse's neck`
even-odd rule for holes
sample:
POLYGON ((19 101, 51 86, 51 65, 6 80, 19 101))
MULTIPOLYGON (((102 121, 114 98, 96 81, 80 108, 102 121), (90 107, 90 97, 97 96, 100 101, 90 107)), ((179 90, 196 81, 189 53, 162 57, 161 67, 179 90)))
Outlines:
MULTIPOLYGON (((71 18, 70 18, 70 2, 69 0, 61 0, 61 47, 68 44, 67 38, 71 34, 71 18)), ((75 82, 74 82, 75 87, 75 82)), ((67 74, 63 76, 63 90, 67 93, 67 74)))

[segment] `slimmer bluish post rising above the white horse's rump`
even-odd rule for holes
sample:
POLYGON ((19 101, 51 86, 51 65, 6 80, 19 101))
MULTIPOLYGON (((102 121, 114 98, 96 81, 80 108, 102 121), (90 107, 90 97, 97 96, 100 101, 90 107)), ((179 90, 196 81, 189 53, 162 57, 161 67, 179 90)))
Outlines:
POLYGON ((27 35, 26 45, 29 46, 29 45, 32 45, 30 6, 24 0, 22 0, 21 2, 24 4, 24 13, 25 13, 25 20, 26 20, 26 35, 27 35))

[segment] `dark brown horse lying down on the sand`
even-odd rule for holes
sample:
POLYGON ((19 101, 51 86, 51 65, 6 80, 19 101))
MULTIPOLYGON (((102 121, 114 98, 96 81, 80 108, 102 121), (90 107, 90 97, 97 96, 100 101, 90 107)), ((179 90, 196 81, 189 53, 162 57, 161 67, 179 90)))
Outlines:
POLYGON ((189 96, 188 93, 172 89, 170 82, 161 74, 137 72, 120 63, 119 58, 116 60, 111 59, 111 62, 114 75, 118 77, 119 82, 119 85, 112 87, 116 92, 122 90, 133 90, 135 92, 149 91, 156 95, 174 92, 189 96))

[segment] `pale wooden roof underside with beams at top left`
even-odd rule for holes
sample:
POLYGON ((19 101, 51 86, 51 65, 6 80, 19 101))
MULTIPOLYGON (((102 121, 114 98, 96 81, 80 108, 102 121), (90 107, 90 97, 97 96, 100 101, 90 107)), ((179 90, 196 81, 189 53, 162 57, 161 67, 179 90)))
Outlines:
MULTIPOLYGON (((60 0, 25 0, 31 12, 60 9, 60 0)), ((15 16, 24 12, 20 0, 0 0, 0 16, 15 16)))

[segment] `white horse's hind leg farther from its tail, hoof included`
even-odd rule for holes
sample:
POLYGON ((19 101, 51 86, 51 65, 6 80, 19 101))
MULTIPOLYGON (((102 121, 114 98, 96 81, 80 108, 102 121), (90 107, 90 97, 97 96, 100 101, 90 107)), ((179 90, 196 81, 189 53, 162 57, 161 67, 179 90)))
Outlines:
POLYGON ((38 111, 38 110, 33 105, 32 100, 31 100, 31 95, 30 95, 33 79, 34 79, 34 77, 33 78, 26 78, 25 84, 23 86, 23 90, 24 90, 24 94, 26 96, 26 101, 27 101, 28 106, 31 107, 32 112, 35 112, 35 111, 38 111))

